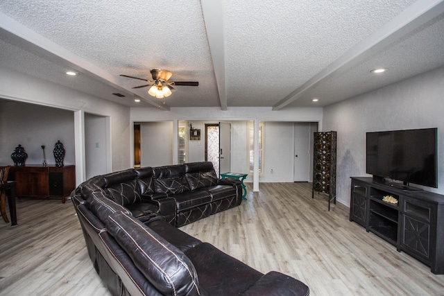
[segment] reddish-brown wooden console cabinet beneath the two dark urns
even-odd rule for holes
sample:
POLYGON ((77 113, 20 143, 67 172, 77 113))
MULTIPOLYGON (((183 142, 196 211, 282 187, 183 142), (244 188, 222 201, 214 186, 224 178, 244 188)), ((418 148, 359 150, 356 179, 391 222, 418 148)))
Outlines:
POLYGON ((76 188, 76 166, 12 166, 8 180, 17 182, 15 195, 28 198, 61 198, 76 188))

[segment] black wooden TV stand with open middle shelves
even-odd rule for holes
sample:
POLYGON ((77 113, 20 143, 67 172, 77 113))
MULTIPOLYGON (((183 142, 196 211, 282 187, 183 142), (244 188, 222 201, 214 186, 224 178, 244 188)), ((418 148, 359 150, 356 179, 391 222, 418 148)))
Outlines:
POLYGON ((444 195, 352 177, 350 221, 430 266, 434 274, 444 274, 444 195), (398 204, 384 202, 384 196, 398 204))

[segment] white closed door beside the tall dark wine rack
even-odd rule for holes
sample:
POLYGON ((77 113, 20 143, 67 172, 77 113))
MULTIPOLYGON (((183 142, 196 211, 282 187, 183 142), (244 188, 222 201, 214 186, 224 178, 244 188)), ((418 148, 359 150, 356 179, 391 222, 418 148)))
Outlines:
POLYGON ((294 124, 294 182, 309 181, 310 123, 294 124))

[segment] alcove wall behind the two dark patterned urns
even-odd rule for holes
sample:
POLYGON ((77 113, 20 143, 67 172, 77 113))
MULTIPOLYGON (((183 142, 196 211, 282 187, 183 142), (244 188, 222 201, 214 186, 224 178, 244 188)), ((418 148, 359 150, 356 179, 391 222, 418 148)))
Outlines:
POLYGON ((42 164, 45 146, 46 164, 56 164, 53 149, 60 140, 65 148, 64 164, 75 164, 74 113, 40 105, 0 101, 0 164, 13 165, 10 157, 21 144, 26 164, 42 164))

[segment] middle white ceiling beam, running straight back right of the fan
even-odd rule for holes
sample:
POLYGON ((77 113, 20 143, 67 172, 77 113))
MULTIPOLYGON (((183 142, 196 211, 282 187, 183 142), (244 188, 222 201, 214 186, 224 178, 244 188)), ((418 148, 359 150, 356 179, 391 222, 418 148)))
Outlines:
POLYGON ((225 37, 223 34, 223 1, 200 0, 208 45, 213 62, 214 76, 221 109, 227 110, 227 86, 225 82, 225 37))

